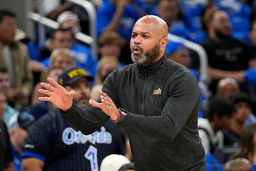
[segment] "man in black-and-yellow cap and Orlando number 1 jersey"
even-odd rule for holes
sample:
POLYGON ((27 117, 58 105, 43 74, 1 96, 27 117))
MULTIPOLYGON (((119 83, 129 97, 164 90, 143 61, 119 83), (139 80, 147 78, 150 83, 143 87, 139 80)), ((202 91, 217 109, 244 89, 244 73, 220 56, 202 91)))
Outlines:
MULTIPOLYGON (((86 71, 76 66, 59 75, 59 84, 75 91, 74 102, 86 108, 90 99, 86 71)), ((119 129, 109 119, 97 131, 83 135, 60 113, 53 109, 39 118, 29 129, 23 146, 23 170, 99 170, 104 157, 124 154, 119 129)))

